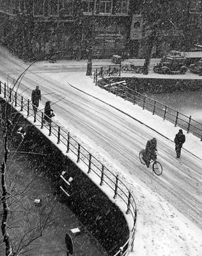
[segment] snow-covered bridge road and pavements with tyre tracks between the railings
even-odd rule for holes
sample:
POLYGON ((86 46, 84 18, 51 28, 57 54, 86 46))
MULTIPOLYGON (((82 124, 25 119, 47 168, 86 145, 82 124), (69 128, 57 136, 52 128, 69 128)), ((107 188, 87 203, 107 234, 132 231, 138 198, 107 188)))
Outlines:
MULTIPOLYGON (((27 67, 4 49, 0 63, 2 81, 8 79, 8 73, 10 78, 17 77, 27 67)), ((42 93, 52 93, 43 96, 40 108, 46 100, 56 102, 65 95, 53 106, 56 122, 118 172, 133 191, 138 218, 131 256, 201 256, 202 142, 184 131, 186 142, 177 160, 173 139, 178 127, 98 88, 85 76, 86 70, 68 71, 65 66, 66 72, 64 68, 60 72, 59 63, 42 61, 33 65, 22 79, 20 90, 30 88, 24 92, 29 98, 36 85, 42 93), (138 159, 139 150, 153 136, 158 140, 159 160, 164 167, 160 177, 138 159)), ((71 61, 68 65, 71 67, 71 61)))

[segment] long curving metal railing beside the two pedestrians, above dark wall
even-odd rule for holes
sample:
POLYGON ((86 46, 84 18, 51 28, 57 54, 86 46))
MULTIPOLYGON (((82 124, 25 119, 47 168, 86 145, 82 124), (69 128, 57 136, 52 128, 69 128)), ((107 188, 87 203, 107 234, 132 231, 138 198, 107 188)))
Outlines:
POLYGON ((118 175, 114 174, 104 164, 102 164, 96 157, 94 157, 86 148, 82 147, 72 136, 70 132, 66 132, 58 124, 49 120, 44 123, 44 113, 38 110, 33 111, 30 106, 30 100, 24 98, 17 92, 14 92, 12 88, 9 88, 6 83, 0 81, 0 94, 3 93, 3 98, 8 100, 10 105, 15 108, 20 108, 19 111, 25 111, 28 117, 33 117, 33 122, 40 122, 40 129, 47 129, 49 136, 54 136, 57 139, 57 143, 61 143, 66 147, 66 154, 72 152, 76 158, 77 163, 82 161, 86 165, 87 173, 95 173, 100 179, 100 186, 107 186, 113 191, 113 198, 118 198, 123 204, 125 204, 126 214, 131 214, 133 218, 133 228, 130 232, 130 236, 125 244, 120 247, 118 252, 114 256, 128 255, 133 250, 134 237, 136 232, 136 220, 137 220, 137 209, 136 202, 132 196, 132 191, 127 188, 118 175))

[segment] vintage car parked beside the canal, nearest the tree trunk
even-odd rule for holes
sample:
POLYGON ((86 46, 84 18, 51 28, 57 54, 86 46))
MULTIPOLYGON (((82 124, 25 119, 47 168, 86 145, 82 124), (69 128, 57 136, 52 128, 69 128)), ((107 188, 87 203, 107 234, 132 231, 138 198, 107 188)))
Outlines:
POLYGON ((171 51, 167 56, 162 57, 153 71, 159 74, 185 74, 187 71, 186 58, 181 52, 171 51))

